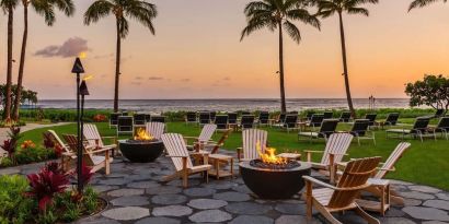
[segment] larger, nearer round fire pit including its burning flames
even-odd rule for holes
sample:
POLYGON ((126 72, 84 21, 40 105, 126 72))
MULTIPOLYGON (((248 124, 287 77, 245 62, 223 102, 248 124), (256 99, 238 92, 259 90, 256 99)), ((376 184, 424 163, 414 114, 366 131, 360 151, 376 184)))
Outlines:
POLYGON ((261 160, 241 162, 244 184, 263 199, 289 199, 303 187, 302 176, 310 175, 311 165, 277 157, 274 149, 261 153, 261 160))

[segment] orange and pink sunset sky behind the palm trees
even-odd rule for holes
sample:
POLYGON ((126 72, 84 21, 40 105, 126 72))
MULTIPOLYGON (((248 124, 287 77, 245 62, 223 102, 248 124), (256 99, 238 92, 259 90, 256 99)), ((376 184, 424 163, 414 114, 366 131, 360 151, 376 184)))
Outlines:
MULTIPOLYGON (((249 0, 147 0, 158 7, 156 36, 131 22, 122 44, 120 98, 277 98, 278 36, 255 32, 240 42, 249 0)), ((57 14, 48 27, 31 12, 24 85, 41 99, 74 98, 74 57, 83 59, 89 98, 113 98, 115 19, 85 26, 92 0, 74 0, 71 17, 57 14)), ((424 74, 449 74, 449 4, 442 1, 407 13, 411 0, 380 0, 370 16, 344 15, 353 97, 406 97, 404 84, 424 74)), ((14 17, 13 79, 23 30, 14 17)), ((314 12, 314 9, 311 9, 314 12)), ((285 36, 288 98, 343 98, 338 21, 321 31, 297 22, 302 40, 285 36)), ((0 82, 5 80, 7 16, 0 15, 0 82)))

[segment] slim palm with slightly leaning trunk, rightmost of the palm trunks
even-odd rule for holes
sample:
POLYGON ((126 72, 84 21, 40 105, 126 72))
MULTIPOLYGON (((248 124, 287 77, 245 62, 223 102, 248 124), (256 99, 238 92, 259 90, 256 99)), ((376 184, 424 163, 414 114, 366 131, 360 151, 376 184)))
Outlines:
POLYGON ((353 117, 356 117, 356 113, 354 110, 353 98, 350 96, 350 87, 349 87, 349 74, 347 69, 347 60, 346 60, 346 42, 345 42, 345 30, 343 26, 343 13, 346 12, 348 14, 361 14, 361 15, 369 15, 367 9, 361 8, 360 4, 364 3, 378 3, 379 0, 316 0, 319 7, 319 15, 323 19, 330 17, 335 13, 338 14, 339 21, 339 37, 342 42, 342 57, 343 57, 343 75, 345 78, 345 89, 346 89, 346 98, 347 104, 349 106, 349 110, 353 114, 353 117))

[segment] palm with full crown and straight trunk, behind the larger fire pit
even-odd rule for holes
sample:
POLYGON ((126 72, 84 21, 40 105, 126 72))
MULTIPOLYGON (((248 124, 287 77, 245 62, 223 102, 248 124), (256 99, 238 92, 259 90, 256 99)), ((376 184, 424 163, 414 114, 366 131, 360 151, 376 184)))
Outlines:
POLYGON ((284 85, 284 28, 287 34, 299 44, 301 33, 292 23, 301 21, 304 24, 310 24, 320 30, 320 21, 306 9, 307 0, 261 0, 253 1, 246 4, 244 13, 246 15, 247 25, 242 31, 240 40, 249 36, 253 32, 262 28, 268 28, 279 32, 279 83, 280 83, 280 110, 286 113, 286 96, 284 85))

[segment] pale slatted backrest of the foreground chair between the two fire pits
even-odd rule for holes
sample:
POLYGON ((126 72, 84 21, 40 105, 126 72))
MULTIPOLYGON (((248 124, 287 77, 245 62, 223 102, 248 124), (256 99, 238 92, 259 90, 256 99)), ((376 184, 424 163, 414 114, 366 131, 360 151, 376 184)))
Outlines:
POLYGON ((187 157, 187 168, 192 168, 193 164, 188 157, 187 145, 184 138, 180 133, 164 133, 161 137, 169 156, 172 156, 172 162, 177 172, 183 169, 183 158, 187 157))

